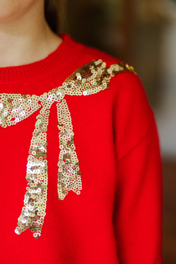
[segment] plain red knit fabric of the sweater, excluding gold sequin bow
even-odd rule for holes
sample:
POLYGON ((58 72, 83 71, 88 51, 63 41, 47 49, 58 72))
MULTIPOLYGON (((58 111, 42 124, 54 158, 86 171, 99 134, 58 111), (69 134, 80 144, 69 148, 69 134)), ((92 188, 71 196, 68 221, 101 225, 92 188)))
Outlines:
MULTIPOLYGON (((121 63, 60 34, 61 45, 28 65, 0 68, 0 94, 41 96, 62 86, 77 68, 121 63)), ((24 207, 26 164, 36 116, 0 126, 0 263, 162 264, 162 169, 155 117, 140 78, 122 72, 109 88, 65 94, 82 189, 58 199, 60 153, 57 107, 47 130, 48 193, 41 236, 14 230, 24 207)), ((1 107, 2 108, 2 107, 1 107)), ((0 110, 1 110, 0 108, 0 110)))

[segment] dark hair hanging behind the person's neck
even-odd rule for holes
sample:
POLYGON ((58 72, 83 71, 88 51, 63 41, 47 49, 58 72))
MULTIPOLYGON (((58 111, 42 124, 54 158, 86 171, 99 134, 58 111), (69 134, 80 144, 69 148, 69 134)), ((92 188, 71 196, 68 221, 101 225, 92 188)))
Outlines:
POLYGON ((45 0, 45 18, 50 28, 57 33, 58 13, 55 0, 45 0))

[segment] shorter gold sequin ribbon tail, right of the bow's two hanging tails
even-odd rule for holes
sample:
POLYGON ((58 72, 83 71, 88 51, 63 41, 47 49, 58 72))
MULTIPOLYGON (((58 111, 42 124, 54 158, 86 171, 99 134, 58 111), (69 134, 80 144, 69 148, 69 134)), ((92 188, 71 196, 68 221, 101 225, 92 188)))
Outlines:
POLYGON ((66 100, 57 103, 57 118, 59 132, 59 161, 58 161, 58 196, 63 200, 69 190, 80 194, 82 189, 79 161, 73 141, 73 126, 66 100))

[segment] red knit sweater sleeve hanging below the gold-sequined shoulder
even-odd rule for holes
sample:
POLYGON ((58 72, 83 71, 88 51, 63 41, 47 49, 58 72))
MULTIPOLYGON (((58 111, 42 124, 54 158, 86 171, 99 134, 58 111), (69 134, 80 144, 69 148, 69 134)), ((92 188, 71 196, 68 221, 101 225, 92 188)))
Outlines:
POLYGON ((158 133, 143 85, 133 73, 117 78, 113 133, 113 225, 119 262, 161 264, 162 169, 158 133))

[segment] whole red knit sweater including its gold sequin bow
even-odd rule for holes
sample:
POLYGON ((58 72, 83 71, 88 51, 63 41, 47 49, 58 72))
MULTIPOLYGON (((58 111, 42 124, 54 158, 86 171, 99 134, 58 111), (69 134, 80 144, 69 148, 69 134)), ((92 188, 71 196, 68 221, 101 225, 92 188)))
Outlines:
POLYGON ((161 264, 160 150, 141 81, 60 36, 45 59, 0 68, 0 263, 161 264))

